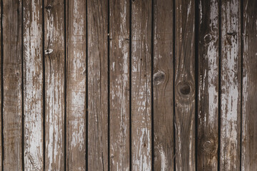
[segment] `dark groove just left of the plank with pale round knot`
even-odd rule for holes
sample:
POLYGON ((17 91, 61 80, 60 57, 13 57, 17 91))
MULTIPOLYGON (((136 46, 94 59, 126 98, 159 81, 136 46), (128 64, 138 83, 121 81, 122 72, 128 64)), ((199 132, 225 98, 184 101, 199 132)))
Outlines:
POLYGON ((152 2, 152 6, 151 6, 151 156, 152 156, 152 160, 151 160, 151 165, 152 165, 152 170, 154 170, 154 127, 153 127, 153 48, 154 48, 154 0, 151 1, 152 2))

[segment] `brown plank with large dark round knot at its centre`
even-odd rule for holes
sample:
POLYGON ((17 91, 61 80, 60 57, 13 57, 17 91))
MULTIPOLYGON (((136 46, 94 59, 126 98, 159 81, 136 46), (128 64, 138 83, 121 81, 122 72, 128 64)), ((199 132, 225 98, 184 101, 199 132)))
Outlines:
POLYGON ((195 170, 195 1, 175 4, 176 170, 195 170))

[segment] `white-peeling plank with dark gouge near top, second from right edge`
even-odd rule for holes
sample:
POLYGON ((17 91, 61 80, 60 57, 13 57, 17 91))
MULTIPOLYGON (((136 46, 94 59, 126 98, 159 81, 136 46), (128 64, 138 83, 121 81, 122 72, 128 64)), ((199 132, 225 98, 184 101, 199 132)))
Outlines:
POLYGON ((221 154, 220 170, 240 170, 241 7, 221 3, 221 154))

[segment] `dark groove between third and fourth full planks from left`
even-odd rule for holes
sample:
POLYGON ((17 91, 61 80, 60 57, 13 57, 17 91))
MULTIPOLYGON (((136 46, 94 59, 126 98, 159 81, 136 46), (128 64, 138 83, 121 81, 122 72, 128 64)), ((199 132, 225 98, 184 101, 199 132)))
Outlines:
POLYGON ((64 171, 66 171, 66 0, 64 0, 64 171))

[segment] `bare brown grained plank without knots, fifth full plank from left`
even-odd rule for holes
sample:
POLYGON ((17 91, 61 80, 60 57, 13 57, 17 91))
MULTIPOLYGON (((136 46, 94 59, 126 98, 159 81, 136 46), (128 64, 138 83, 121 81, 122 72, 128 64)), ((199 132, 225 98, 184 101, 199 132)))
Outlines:
POLYGON ((88 169, 108 170, 108 4, 88 0, 88 169))

